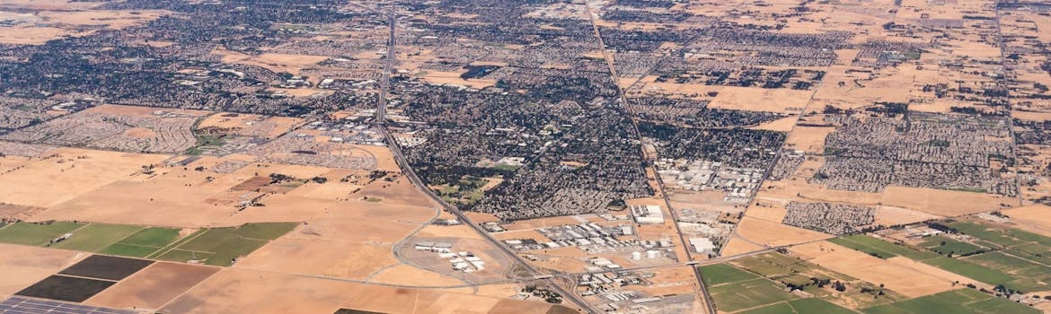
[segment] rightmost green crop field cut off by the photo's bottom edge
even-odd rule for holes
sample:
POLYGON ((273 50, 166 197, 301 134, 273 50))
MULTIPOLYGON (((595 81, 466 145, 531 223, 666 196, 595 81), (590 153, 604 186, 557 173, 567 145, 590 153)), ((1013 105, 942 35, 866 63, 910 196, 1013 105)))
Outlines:
POLYGON ((991 295, 971 290, 961 289, 939 294, 918 297, 890 305, 884 305, 865 309, 863 312, 869 314, 891 314, 891 313, 1039 313, 1032 309, 1006 298, 993 297, 991 295), (1002 311, 1003 310, 1003 311, 1002 311))

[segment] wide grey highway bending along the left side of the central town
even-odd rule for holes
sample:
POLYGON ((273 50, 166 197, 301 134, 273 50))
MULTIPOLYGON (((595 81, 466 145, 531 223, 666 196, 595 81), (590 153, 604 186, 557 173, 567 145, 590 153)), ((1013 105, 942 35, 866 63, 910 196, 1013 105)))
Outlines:
MULTIPOLYGON (((409 181, 412 182, 412 184, 416 186, 417 189, 424 192, 424 194, 430 197, 431 201, 433 201, 434 203, 438 204, 446 211, 456 216, 456 218, 462 222, 465 226, 474 229, 474 231, 480 234, 482 238, 492 244, 493 247, 503 252, 503 254, 508 255, 508 257, 511 258, 516 264, 516 266, 520 267, 531 276, 537 276, 543 274, 536 268, 534 268, 532 265, 530 265, 527 260, 524 260, 521 256, 518 256, 518 254, 516 254, 513 250, 503 246, 502 242, 490 235, 488 231, 481 228, 481 226, 472 222, 471 218, 469 218, 466 214, 463 214, 463 212, 459 210, 459 208, 456 208, 455 206, 446 203, 444 200, 441 200, 441 197, 435 194, 434 191, 431 191, 431 189, 427 188, 424 182, 419 180, 419 176, 416 174, 416 172, 412 170, 412 167, 411 165, 409 165, 409 162, 405 159, 405 155, 401 153, 401 148, 397 145, 397 141, 395 141, 394 137, 392 137, 390 132, 387 130, 386 127, 387 124, 386 114, 388 105, 387 96, 390 90, 390 76, 392 72, 393 63, 395 62, 396 58, 394 54, 394 48, 396 44, 395 34, 394 34, 394 29, 396 27, 395 26, 396 18, 395 18, 393 2, 391 2, 391 7, 388 14, 388 24, 390 28, 390 40, 388 41, 389 45, 387 47, 387 58, 384 60, 384 74, 380 83, 379 100, 376 102, 376 117, 373 120, 373 127, 375 127, 375 129, 377 129, 384 135, 384 139, 387 141, 390 147, 391 153, 394 155, 394 161, 401 169, 403 174, 405 174, 405 176, 408 177, 409 181)), ((600 313, 595 309, 593 309, 590 305, 588 305, 588 302, 584 302, 575 293, 565 290, 564 288, 559 286, 558 282, 554 282, 552 280, 554 278, 558 277, 552 277, 545 280, 551 281, 549 285, 550 288, 554 292, 562 295, 563 299, 573 302, 574 305, 586 311, 588 313, 596 313, 596 314, 600 313)))

